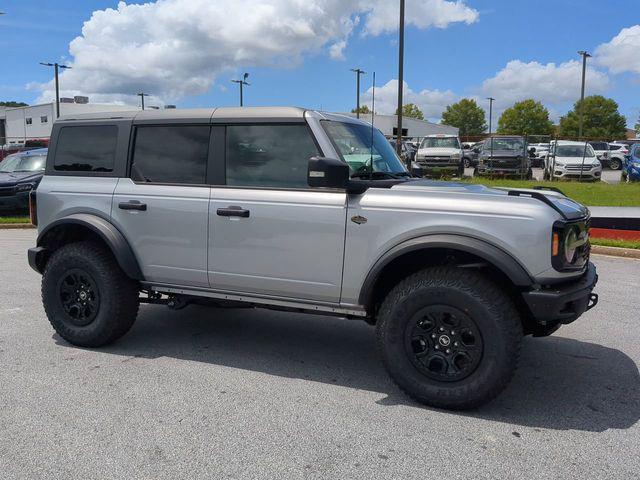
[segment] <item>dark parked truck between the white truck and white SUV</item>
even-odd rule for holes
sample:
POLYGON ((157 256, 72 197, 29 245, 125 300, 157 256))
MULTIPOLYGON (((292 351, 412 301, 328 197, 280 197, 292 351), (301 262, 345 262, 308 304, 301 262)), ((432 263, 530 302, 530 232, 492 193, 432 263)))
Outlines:
POLYGON ((482 142, 474 176, 533 178, 531 159, 524 137, 494 136, 482 142))

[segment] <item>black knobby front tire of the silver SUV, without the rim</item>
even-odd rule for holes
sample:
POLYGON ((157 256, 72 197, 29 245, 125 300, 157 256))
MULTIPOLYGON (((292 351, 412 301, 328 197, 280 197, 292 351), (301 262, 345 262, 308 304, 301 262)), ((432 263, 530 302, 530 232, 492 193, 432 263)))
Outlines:
POLYGON ((478 407, 502 392, 516 370, 522 336, 508 295, 484 275, 455 267, 428 268, 407 277, 387 295, 377 321, 382 360, 398 387, 420 403, 452 410, 478 407), (430 378, 414 366, 405 348, 412 317, 431 305, 459 309, 478 327, 482 357, 461 380, 430 378))

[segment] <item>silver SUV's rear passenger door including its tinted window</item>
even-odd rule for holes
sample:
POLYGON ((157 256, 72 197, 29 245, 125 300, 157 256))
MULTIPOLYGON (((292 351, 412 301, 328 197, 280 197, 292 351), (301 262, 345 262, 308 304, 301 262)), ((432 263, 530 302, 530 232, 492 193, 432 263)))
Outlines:
POLYGON ((112 221, 148 281, 208 287, 208 124, 135 125, 112 221))

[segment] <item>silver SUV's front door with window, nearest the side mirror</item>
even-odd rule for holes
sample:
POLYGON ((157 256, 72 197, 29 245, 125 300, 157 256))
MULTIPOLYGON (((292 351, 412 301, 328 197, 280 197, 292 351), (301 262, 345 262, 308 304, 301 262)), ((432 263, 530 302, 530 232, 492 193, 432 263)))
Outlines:
POLYGON ((321 154, 305 123, 227 125, 226 185, 209 208, 216 290, 339 302, 346 193, 311 189, 321 154))

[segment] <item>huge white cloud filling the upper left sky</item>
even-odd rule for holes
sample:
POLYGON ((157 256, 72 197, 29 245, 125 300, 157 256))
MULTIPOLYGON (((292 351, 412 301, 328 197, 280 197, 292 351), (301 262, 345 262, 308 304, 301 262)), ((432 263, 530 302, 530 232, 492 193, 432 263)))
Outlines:
MULTIPOLYGON (((397 16, 389 0, 120 2, 95 11, 70 43, 73 69, 61 73, 62 94, 135 103, 132 94, 142 90, 175 102, 238 68, 292 67, 327 47, 341 59, 361 17, 362 31, 377 35, 393 30, 397 16)), ((478 13, 463 1, 409 0, 407 18, 418 28, 444 28, 478 13)), ((52 82, 30 88, 40 101, 54 97, 52 82)))

